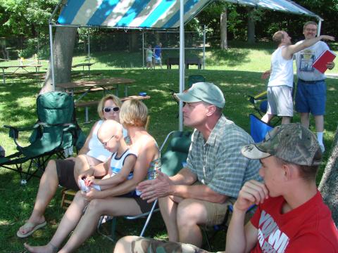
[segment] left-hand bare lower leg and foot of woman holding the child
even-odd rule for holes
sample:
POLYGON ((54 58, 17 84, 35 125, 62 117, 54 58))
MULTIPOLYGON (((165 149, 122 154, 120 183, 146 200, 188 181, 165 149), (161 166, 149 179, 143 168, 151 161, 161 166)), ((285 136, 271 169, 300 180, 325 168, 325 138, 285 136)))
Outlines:
POLYGON ((84 197, 82 197, 81 192, 78 191, 74 197, 72 204, 70 204, 67 211, 63 215, 63 218, 60 224, 58 225, 58 229, 56 230, 56 233, 54 234, 53 238, 51 238, 51 241, 47 245, 39 247, 32 247, 30 245, 25 244, 26 249, 29 252, 35 253, 55 252, 55 248, 61 247, 63 240, 67 238, 69 233, 73 231, 77 223, 80 221, 82 211, 84 207, 86 207, 88 202, 89 202, 88 200, 85 200, 84 197), (54 247, 54 249, 52 247, 54 247))

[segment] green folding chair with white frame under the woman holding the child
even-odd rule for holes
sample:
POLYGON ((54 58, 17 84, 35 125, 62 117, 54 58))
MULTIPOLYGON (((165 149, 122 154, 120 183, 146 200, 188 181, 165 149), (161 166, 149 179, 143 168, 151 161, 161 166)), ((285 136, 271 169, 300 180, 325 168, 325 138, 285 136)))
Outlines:
MULTIPOLYGON (((163 144, 161 145, 161 171, 168 176, 175 175, 180 169, 182 169, 183 164, 187 161, 189 147, 191 143, 192 131, 172 131, 165 137, 163 144), (165 151, 163 152, 163 148, 165 151)), ((146 212, 144 214, 139 214, 137 216, 124 216, 125 219, 134 220, 139 218, 146 218, 144 226, 142 228, 139 236, 143 236, 146 231, 146 227, 149 224, 152 214, 158 211, 157 200, 154 201, 151 211, 146 212)), ((97 226, 97 231, 101 235, 104 235, 105 238, 111 241, 115 241, 115 228, 117 223, 117 217, 113 217, 112 225, 111 225, 111 234, 106 235, 101 231, 101 223, 105 219, 106 216, 101 216, 101 219, 97 226)), ((110 218, 108 218, 110 219, 110 218)))

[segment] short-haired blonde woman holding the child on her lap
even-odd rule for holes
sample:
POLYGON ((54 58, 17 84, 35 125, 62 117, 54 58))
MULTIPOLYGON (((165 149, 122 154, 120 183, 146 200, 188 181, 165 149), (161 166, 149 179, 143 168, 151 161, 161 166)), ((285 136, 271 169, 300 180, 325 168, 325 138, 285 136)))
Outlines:
MULTIPOLYGON (((146 179, 149 172, 154 173, 154 169, 161 167, 158 145, 144 129, 147 115, 146 105, 139 100, 125 101, 120 110, 120 122, 127 129, 132 142, 130 150, 137 155, 132 178, 107 190, 97 191, 92 188, 89 193, 77 192, 51 241, 41 247, 25 244, 28 251, 56 252, 75 228, 63 248, 59 250, 73 252, 94 232, 101 215, 138 215, 151 209, 151 205, 138 197, 135 191, 137 184, 146 179)), ((105 141, 104 138, 100 136, 99 138, 101 142, 105 141)))

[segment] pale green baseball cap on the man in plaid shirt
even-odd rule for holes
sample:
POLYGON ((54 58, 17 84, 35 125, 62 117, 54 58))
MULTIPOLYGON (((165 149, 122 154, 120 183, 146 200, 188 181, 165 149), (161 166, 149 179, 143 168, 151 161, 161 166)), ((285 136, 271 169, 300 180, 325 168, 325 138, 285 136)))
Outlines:
POLYGON ((218 108, 224 108, 225 98, 222 91, 215 84, 208 82, 198 82, 192 84, 190 89, 182 93, 174 93, 175 98, 187 103, 204 101, 218 108))

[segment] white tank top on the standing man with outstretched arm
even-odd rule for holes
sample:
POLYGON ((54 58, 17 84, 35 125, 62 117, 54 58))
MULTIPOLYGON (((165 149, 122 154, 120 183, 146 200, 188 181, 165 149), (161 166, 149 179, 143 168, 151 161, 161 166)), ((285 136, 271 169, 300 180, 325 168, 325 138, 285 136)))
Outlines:
POLYGON ((273 52, 271 56, 271 74, 268 86, 287 85, 294 86, 294 66, 292 58, 285 60, 282 56, 282 48, 280 46, 273 52))

